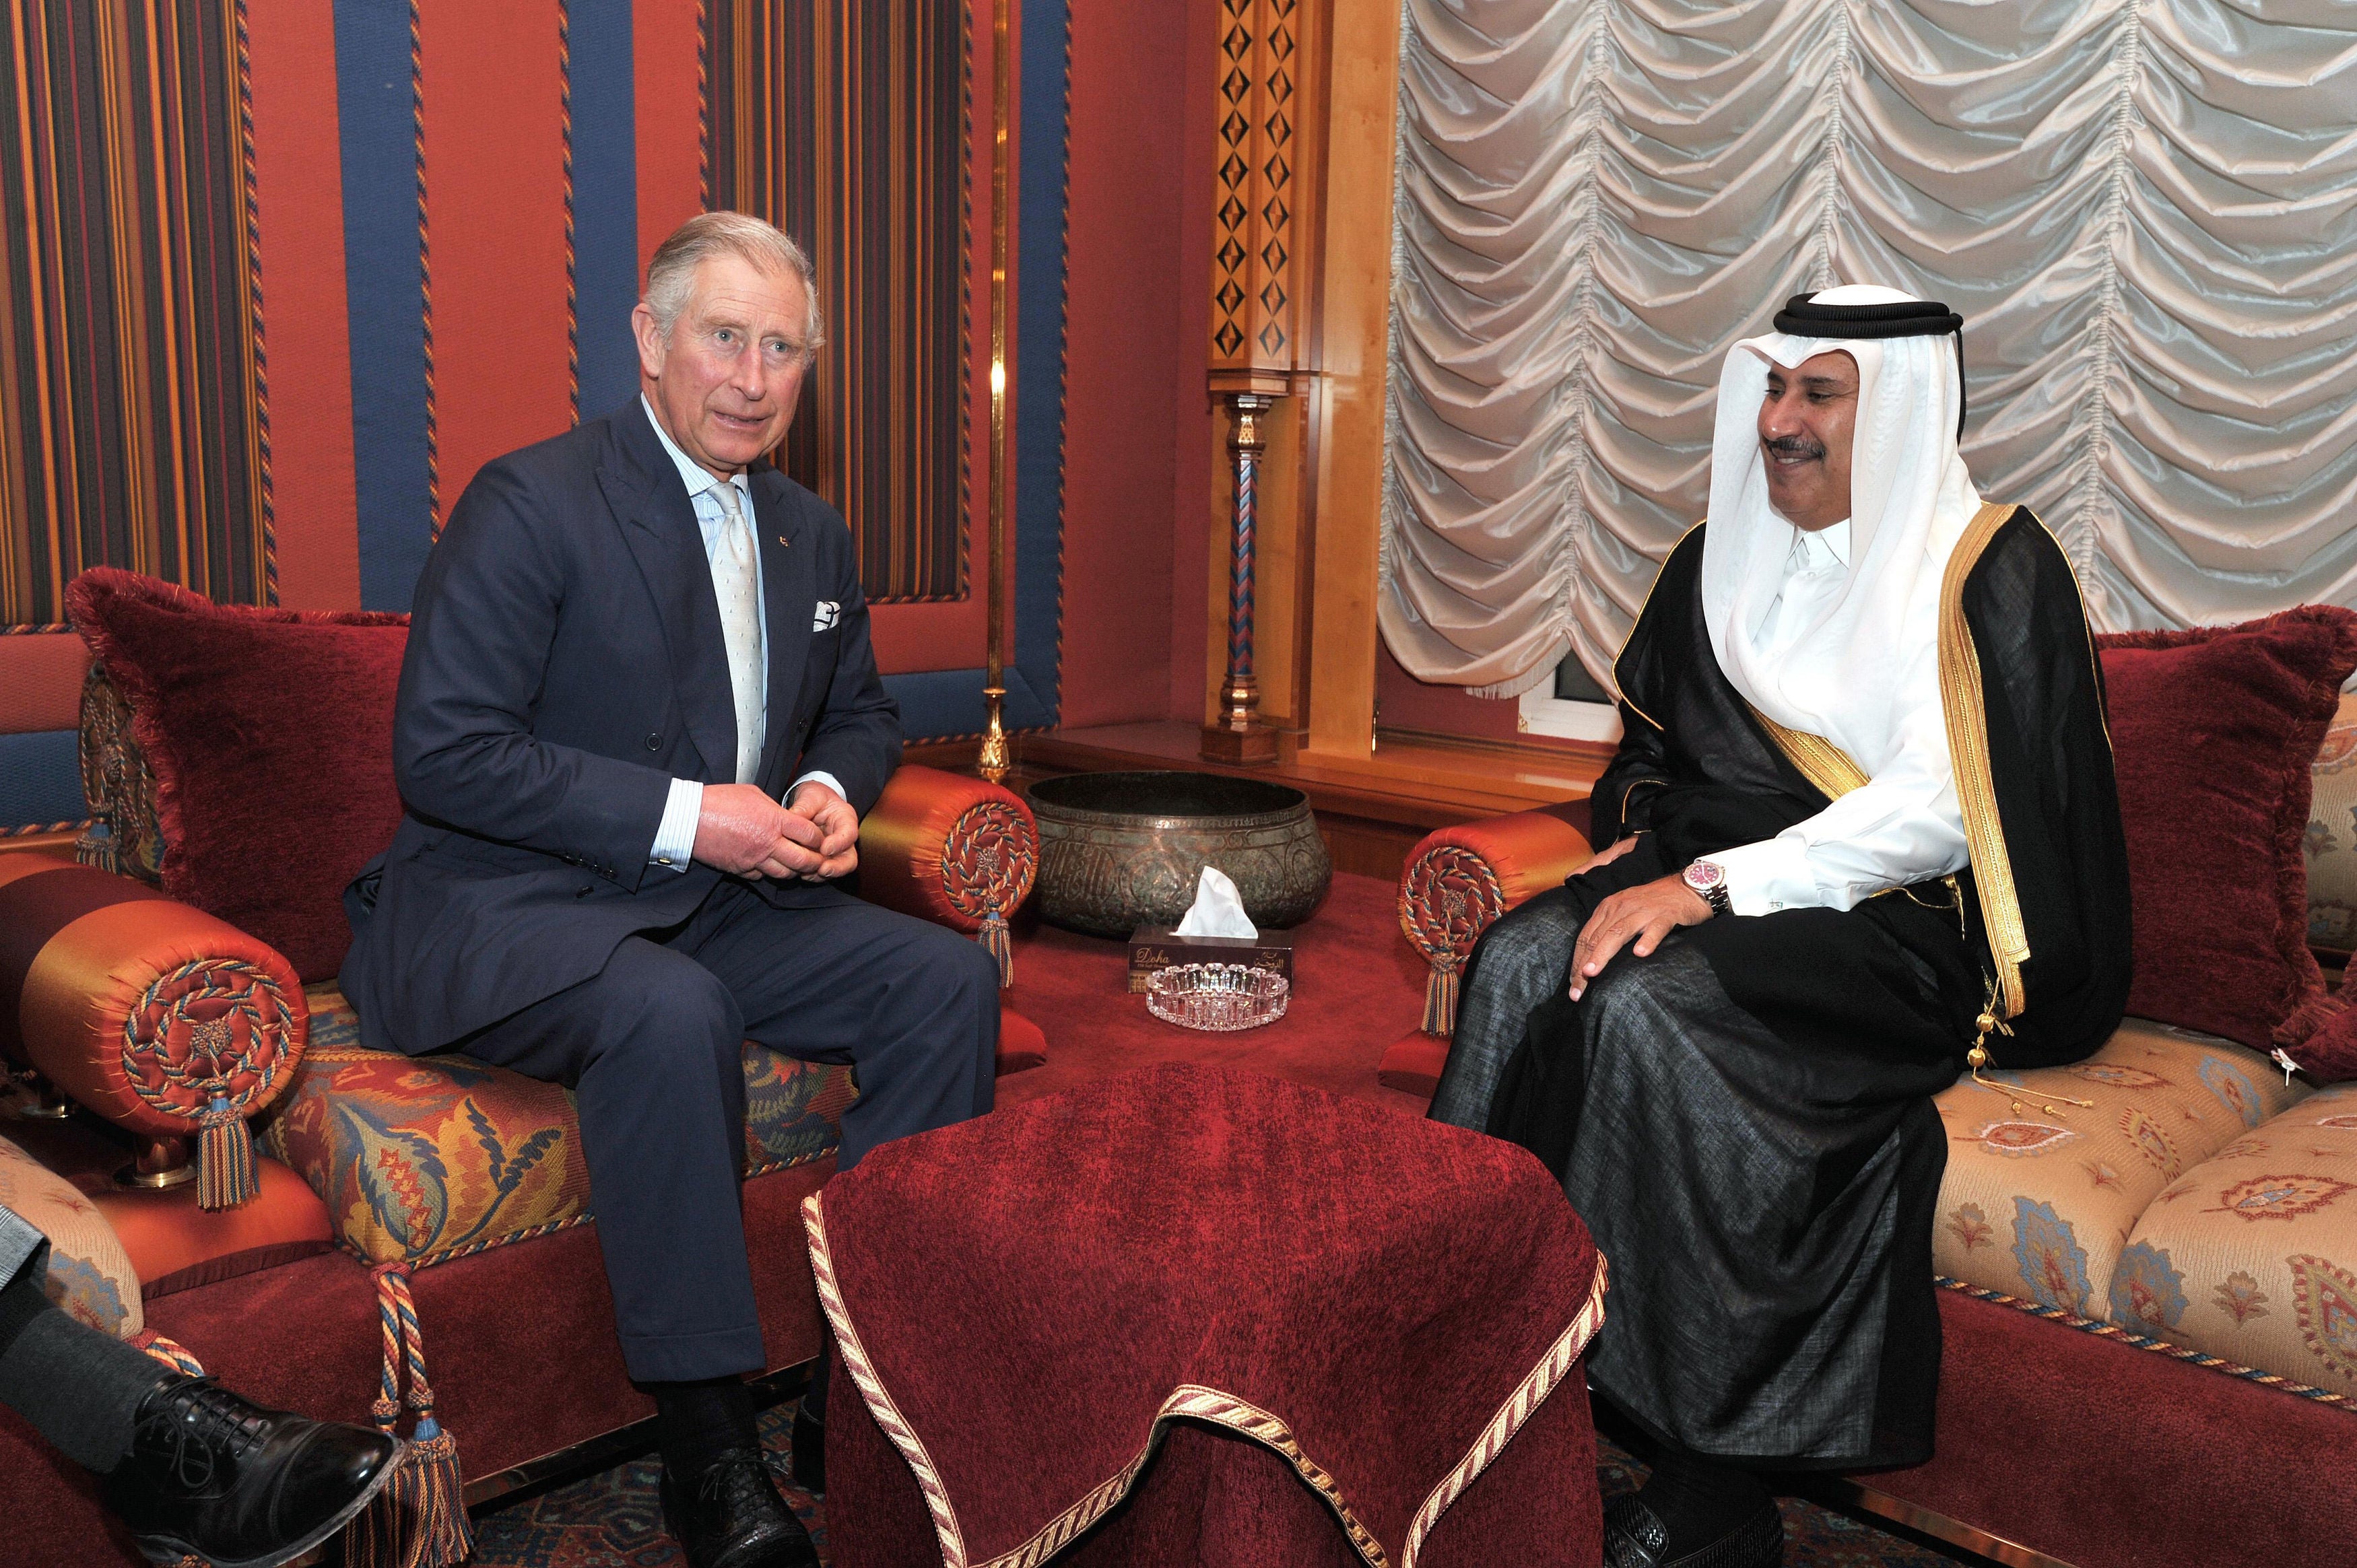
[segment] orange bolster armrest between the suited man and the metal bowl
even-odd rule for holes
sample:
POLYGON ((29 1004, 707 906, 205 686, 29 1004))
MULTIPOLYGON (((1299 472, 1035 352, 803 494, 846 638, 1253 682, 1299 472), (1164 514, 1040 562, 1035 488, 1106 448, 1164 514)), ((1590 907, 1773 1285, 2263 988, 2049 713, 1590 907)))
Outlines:
POLYGON ((860 898, 957 931, 1014 915, 1037 875, 1030 806, 981 778, 903 766, 860 823, 860 898))

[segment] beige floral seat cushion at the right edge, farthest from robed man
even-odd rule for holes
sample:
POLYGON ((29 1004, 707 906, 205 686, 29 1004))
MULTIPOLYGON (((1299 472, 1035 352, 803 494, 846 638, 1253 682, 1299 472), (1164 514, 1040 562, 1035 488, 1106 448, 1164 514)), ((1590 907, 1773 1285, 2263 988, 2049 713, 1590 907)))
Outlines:
POLYGON ((2312 1094, 2171 1181, 2095 1316, 2357 1394, 2357 1085, 2312 1094))

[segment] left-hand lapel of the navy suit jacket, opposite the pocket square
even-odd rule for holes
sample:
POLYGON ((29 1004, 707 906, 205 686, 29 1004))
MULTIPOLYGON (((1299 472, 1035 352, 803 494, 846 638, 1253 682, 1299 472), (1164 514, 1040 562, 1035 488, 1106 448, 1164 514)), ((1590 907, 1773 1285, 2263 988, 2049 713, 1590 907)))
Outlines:
POLYGON ((695 507, 636 401, 613 420, 613 431, 615 446, 599 465, 599 488, 622 519, 622 538, 655 601, 679 707, 688 722, 688 738, 705 759, 705 778, 733 783, 735 703, 728 696, 728 644, 721 639, 721 604, 712 592, 712 561, 695 526, 695 507))

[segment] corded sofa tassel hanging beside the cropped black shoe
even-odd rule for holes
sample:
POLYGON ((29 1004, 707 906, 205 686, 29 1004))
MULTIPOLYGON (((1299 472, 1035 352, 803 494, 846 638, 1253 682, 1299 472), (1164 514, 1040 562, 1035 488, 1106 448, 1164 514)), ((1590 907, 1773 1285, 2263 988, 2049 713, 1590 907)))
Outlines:
POLYGON ((377 1429, 391 1436, 401 1424, 401 1408, 408 1405, 410 1452, 344 1535, 344 1563, 346 1568, 453 1568, 474 1551, 457 1438, 434 1419, 434 1386, 427 1382, 424 1339, 417 1332, 417 1304, 410 1299, 410 1266, 379 1264, 372 1273, 384 1365, 377 1377, 377 1401, 368 1410, 377 1429), (403 1382, 408 1382, 405 1396, 403 1382))

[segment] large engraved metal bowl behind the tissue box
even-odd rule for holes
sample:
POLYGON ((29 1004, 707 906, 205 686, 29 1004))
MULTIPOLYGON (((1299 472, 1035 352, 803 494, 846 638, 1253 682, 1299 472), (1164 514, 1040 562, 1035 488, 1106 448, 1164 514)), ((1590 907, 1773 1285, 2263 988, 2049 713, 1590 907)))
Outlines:
POLYGON ((1204 865, 1235 882, 1256 927, 1296 927, 1334 884, 1310 799, 1266 778, 1065 773, 1030 788, 1039 920, 1089 936, 1171 927, 1204 865))

